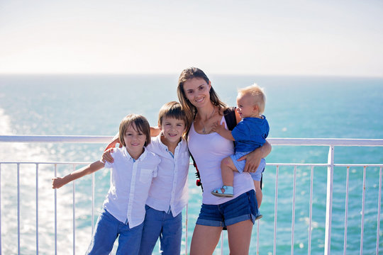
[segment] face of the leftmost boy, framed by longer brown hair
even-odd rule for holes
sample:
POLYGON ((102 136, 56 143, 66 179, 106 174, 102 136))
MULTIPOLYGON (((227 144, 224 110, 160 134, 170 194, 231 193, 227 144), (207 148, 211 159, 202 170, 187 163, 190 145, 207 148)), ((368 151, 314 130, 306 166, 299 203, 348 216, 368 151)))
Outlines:
POLYGON ((126 149, 129 154, 138 154, 143 152, 143 147, 146 142, 146 135, 139 131, 134 123, 126 129, 123 135, 123 141, 125 142, 126 149))

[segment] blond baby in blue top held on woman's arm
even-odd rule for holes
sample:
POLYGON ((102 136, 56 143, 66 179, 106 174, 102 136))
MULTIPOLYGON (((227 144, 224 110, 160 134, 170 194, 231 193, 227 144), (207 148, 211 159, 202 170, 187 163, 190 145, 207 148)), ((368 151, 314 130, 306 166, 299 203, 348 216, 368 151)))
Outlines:
MULTIPOLYGON (((223 187, 211 191, 214 196, 233 197, 233 171, 242 173, 245 167, 245 160, 238 162, 237 159, 265 143, 270 130, 266 117, 262 115, 265 110, 265 101, 263 89, 256 84, 240 89, 237 96, 237 111, 242 118, 240 123, 238 123, 233 131, 226 130, 224 123, 214 125, 213 131, 218 132, 219 135, 228 140, 235 141, 235 154, 226 157, 221 162, 223 187)), ((262 202, 260 179, 262 171, 265 169, 264 166, 265 159, 262 159, 255 173, 250 173, 254 180, 258 207, 262 202)), ((259 219, 260 217, 262 215, 259 215, 257 218, 259 219)))

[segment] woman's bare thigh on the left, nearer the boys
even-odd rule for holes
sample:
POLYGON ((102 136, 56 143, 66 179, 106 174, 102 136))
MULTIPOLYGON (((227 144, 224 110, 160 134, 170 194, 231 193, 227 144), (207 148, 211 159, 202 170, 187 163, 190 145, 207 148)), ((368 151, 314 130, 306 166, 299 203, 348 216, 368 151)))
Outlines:
POLYGON ((221 236, 222 227, 196 225, 191 238, 190 255, 211 255, 221 236))

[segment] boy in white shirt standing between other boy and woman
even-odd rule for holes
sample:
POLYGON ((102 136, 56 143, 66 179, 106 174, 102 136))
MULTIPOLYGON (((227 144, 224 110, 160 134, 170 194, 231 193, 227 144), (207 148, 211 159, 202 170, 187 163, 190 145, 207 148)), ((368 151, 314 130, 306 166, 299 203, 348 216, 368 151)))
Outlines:
MULTIPOLYGON (((162 254, 181 252, 182 209, 188 200, 189 171, 189 150, 182 136, 188 126, 180 103, 172 101, 162 106, 158 117, 160 135, 152 137, 148 146, 150 152, 160 157, 161 163, 146 201, 140 255, 152 254, 158 237, 162 254)), ((108 152, 104 156, 108 161, 108 152)))

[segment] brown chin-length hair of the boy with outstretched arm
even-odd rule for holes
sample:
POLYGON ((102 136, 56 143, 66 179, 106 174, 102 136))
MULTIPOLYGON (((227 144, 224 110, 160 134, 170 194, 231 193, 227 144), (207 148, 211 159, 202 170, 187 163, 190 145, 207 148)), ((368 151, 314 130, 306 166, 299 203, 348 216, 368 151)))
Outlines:
POLYGON ((126 133, 126 130, 134 123, 135 127, 137 128, 137 132, 143 132, 144 135, 146 135, 146 141, 145 146, 148 146, 150 144, 150 125, 148 123, 148 120, 143 115, 138 114, 129 114, 126 115, 123 120, 121 120, 120 123, 120 130, 118 131, 118 136, 120 139, 120 142, 122 143, 123 147, 126 147, 125 141, 123 140, 123 136, 126 133))

